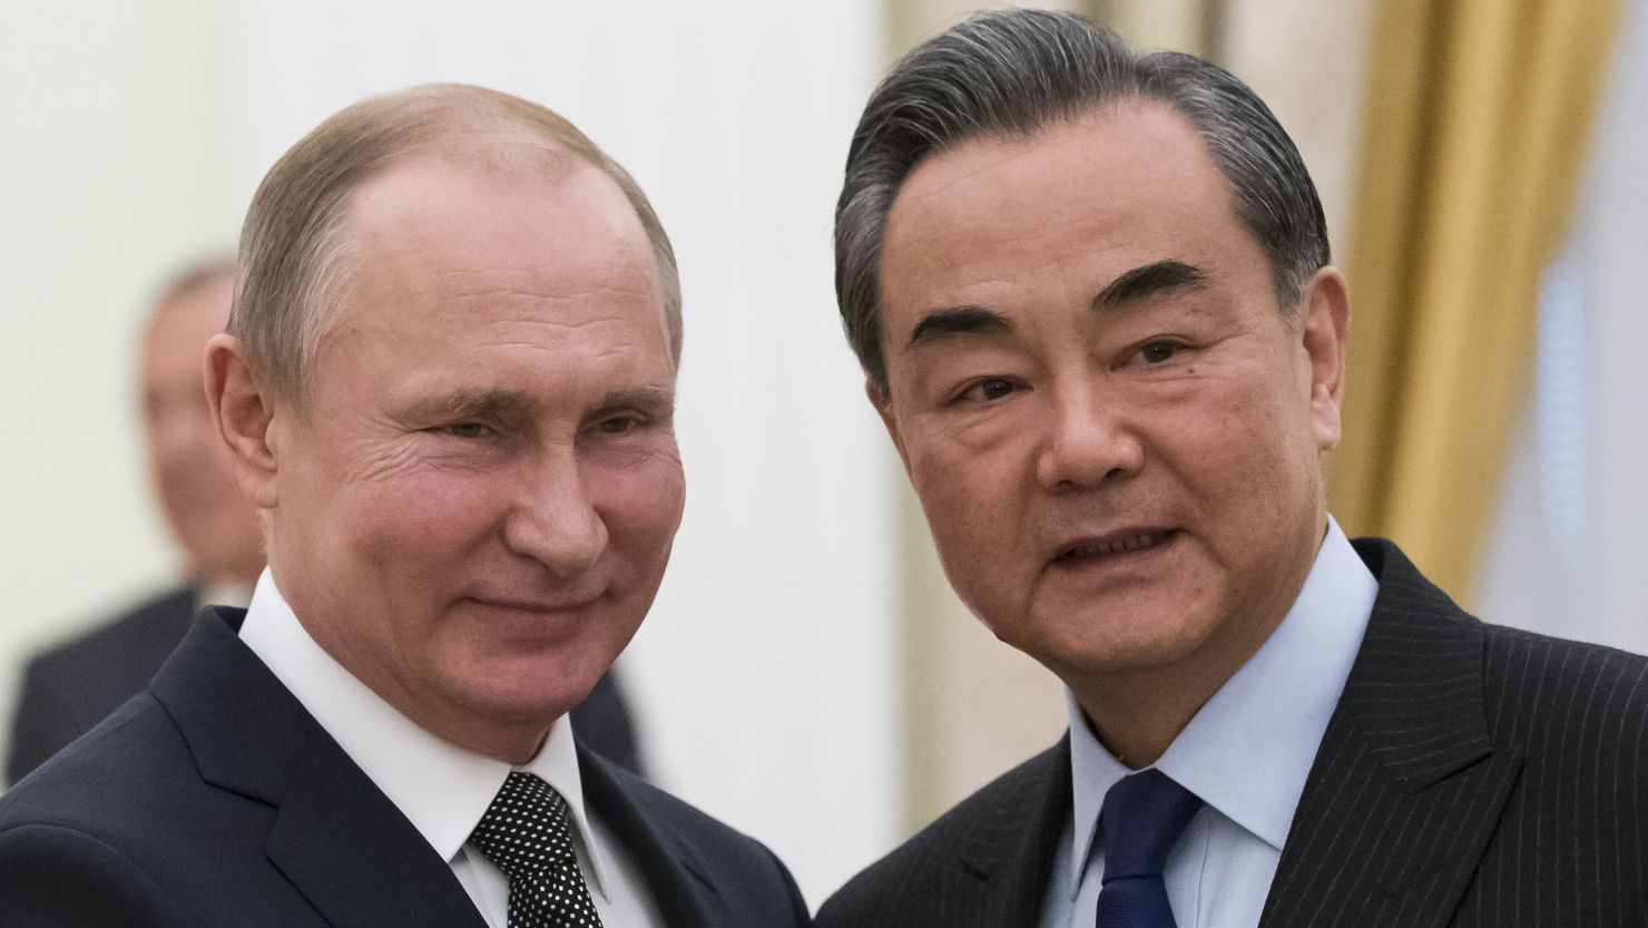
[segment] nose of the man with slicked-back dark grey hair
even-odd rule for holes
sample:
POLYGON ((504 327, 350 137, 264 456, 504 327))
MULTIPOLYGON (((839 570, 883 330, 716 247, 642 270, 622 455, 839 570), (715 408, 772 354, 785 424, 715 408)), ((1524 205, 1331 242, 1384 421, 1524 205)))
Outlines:
POLYGON ((1037 457, 1037 480, 1048 493, 1124 480, 1144 466, 1137 425, 1117 397, 1091 382, 1055 391, 1051 425, 1037 457))

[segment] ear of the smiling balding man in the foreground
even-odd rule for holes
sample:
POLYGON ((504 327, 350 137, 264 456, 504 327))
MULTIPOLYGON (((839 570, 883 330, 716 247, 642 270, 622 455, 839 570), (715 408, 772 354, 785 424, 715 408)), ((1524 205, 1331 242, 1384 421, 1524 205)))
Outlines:
POLYGON ((241 493, 259 509, 275 506, 274 392, 262 382, 232 335, 206 343, 206 401, 218 434, 229 447, 241 493))

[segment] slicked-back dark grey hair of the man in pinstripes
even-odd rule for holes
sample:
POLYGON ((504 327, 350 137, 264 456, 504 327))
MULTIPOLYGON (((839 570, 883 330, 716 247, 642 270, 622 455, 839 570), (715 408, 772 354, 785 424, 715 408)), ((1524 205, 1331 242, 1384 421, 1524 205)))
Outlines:
POLYGON ((1129 99, 1172 105, 1229 181, 1236 216, 1264 249, 1277 303, 1328 264, 1322 201, 1276 115, 1223 68, 1192 54, 1135 54, 1073 13, 979 13, 906 54, 870 96, 836 204, 836 298, 865 374, 887 387, 880 264, 887 214, 931 153, 987 137, 1028 137, 1129 99))

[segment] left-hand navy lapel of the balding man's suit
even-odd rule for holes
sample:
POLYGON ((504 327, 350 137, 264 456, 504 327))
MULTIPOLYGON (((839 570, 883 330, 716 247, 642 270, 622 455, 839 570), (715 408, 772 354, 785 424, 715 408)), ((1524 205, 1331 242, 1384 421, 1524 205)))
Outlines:
POLYGON ((275 679, 208 613, 155 677, 201 776, 274 809, 265 852, 326 923, 483 928, 452 869, 275 679))

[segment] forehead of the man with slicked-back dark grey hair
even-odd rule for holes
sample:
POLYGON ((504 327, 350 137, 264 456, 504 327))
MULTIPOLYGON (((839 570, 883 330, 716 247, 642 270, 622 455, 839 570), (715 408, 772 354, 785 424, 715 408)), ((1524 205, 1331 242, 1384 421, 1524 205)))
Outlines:
POLYGON ((916 280, 1007 280, 1073 262, 1103 277, 1234 251, 1252 252, 1252 241, 1206 143, 1167 104, 1127 101, 921 162, 888 213, 883 303, 893 312, 916 280))

